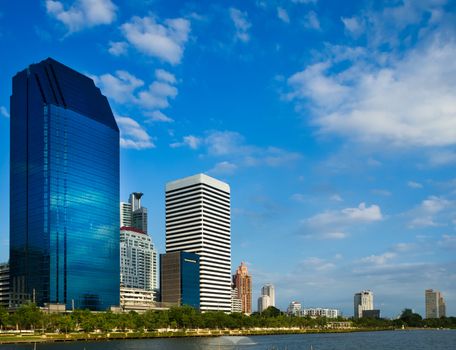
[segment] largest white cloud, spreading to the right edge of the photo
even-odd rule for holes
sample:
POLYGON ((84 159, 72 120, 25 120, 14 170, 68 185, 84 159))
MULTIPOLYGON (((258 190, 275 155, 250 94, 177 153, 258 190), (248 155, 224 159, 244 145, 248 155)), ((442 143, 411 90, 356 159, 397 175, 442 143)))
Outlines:
MULTIPOLYGON (((374 23, 370 32, 385 30, 378 18, 404 16, 405 23, 421 18, 412 2, 404 3, 405 9, 413 9, 411 18, 404 7, 385 10, 369 17, 374 23)), ((347 30, 361 30, 358 20, 345 19, 347 30)), ((339 47, 338 53, 334 50, 290 76, 286 97, 298 109, 310 109, 322 133, 396 147, 455 145, 456 42, 446 29, 426 35, 428 27, 420 32, 420 43, 402 52, 339 47), (351 56, 338 56, 349 52, 351 56)))

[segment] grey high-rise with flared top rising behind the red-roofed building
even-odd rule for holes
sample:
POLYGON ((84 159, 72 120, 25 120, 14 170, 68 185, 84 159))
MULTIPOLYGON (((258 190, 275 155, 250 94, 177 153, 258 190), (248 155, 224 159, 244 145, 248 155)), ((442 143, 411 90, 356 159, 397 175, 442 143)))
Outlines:
POLYGON ((148 233, 147 208, 141 205, 142 196, 141 192, 133 192, 128 203, 120 202, 120 226, 134 227, 148 233))

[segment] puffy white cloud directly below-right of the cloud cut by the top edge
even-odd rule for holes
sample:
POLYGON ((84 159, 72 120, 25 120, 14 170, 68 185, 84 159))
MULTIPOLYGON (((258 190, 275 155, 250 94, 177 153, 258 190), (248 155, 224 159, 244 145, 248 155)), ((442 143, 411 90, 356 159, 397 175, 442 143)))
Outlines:
POLYGON ((184 18, 158 23, 154 16, 135 16, 121 29, 129 43, 140 52, 175 65, 182 60, 191 26, 184 18))

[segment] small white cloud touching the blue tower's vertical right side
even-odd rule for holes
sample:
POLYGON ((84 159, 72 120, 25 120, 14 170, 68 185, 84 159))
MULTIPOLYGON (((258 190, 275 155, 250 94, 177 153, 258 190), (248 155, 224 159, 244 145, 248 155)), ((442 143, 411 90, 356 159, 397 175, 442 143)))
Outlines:
POLYGON ((152 138, 136 120, 130 117, 116 116, 116 121, 120 129, 120 146, 122 148, 140 150, 155 147, 152 138))

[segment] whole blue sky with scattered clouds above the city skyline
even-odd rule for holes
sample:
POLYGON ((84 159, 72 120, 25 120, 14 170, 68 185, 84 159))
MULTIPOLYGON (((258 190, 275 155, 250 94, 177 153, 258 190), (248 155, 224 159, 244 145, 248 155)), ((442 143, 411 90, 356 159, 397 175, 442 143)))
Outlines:
MULTIPOLYGON (((456 4, 446 0, 0 3, 0 260, 11 78, 47 57, 92 77, 121 130, 121 199, 165 252, 166 182, 231 186, 232 269, 253 305, 456 316, 456 4)), ((14 198, 13 198, 14 200, 14 198)))

